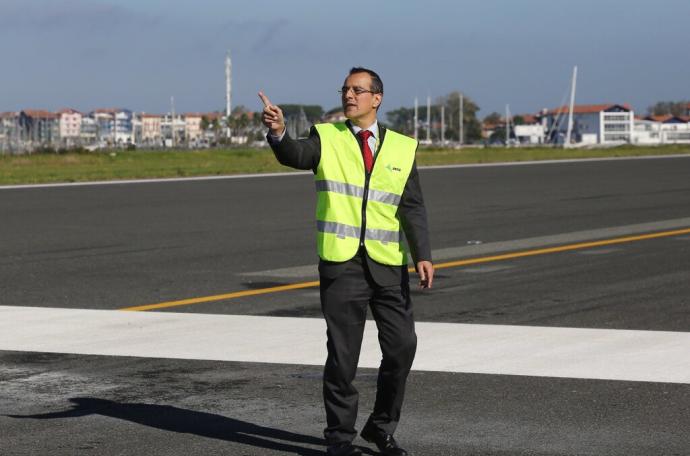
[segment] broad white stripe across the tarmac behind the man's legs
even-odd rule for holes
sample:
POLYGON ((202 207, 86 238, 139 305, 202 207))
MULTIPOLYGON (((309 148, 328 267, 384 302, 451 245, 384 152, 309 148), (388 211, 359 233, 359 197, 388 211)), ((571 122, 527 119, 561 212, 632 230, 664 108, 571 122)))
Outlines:
MULTIPOLYGON (((690 333, 418 323, 414 368, 690 383, 690 333)), ((0 350, 320 366, 318 318, 0 307, 0 350)), ((377 367, 367 324, 360 366, 377 367)))

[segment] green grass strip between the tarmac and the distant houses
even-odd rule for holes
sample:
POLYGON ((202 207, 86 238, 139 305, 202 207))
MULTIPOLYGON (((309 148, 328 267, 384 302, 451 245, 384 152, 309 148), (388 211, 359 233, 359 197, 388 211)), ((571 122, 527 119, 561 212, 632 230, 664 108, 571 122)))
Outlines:
MULTIPOLYGON (((690 145, 620 146, 606 149, 420 148, 417 153, 417 163, 419 166, 424 166, 676 154, 690 154, 690 145)), ((0 155, 0 185, 213 176, 291 170, 280 165, 270 149, 112 150, 79 154, 0 155)))

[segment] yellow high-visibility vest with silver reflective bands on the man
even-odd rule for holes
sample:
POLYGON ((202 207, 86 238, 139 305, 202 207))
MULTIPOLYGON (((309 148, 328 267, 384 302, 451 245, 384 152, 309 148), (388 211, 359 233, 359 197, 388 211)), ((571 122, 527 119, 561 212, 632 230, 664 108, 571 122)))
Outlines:
POLYGON ((363 245, 379 263, 407 264, 398 205, 414 165, 417 141, 387 130, 367 176, 359 143, 347 125, 315 127, 321 139, 315 176, 319 257, 347 261, 363 245))

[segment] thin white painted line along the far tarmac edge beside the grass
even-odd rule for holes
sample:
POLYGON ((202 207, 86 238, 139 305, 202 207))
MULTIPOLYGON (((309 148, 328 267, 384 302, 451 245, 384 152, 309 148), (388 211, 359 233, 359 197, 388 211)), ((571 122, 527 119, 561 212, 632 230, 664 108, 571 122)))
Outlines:
MULTIPOLYGON (((600 161, 620 161, 620 160, 653 160, 660 158, 690 158, 690 155, 645 155, 641 157, 602 157, 602 158, 574 158, 562 160, 533 160, 521 162, 498 162, 498 163, 467 163, 457 165, 431 165, 420 166, 419 169, 455 169, 455 168, 487 168, 493 166, 526 166, 526 165, 553 165, 563 163, 583 163, 600 161)), ((160 184, 171 182, 194 182, 209 180, 226 179, 249 179, 255 177, 285 177, 285 176, 304 176, 312 175, 311 171, 287 171, 281 173, 254 173, 254 174, 228 174, 222 176, 195 176, 195 177, 166 177, 158 179, 122 179, 90 182, 57 182, 51 184, 19 184, 19 185, 0 185, 0 190, 18 190, 31 188, 59 188, 59 187, 86 187, 92 185, 125 185, 125 184, 160 184)))

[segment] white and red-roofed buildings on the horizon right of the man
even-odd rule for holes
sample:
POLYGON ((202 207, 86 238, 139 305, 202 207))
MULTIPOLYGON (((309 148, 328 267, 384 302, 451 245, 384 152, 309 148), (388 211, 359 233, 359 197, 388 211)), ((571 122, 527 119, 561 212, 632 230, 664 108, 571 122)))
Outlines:
MULTIPOLYGON (((628 104, 575 105, 572 114, 570 141, 577 145, 690 143, 690 103, 681 116, 636 116, 628 104)), ((563 144, 568 117, 567 106, 514 116, 508 122, 510 138, 520 144, 563 144), (518 117, 521 122, 515 125, 518 117)), ((502 119, 485 125, 485 137, 490 138, 497 127, 505 128, 505 123, 502 119)))

